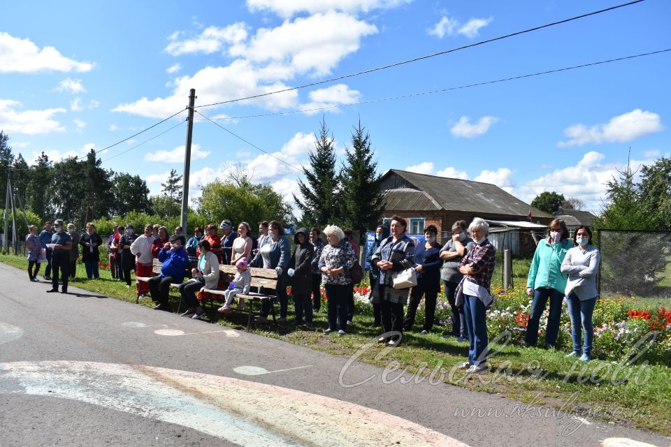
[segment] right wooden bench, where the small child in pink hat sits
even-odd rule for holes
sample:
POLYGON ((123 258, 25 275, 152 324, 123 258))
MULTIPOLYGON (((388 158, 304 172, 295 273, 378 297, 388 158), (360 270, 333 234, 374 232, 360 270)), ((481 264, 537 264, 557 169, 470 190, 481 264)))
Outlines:
MULTIPOLYGON (((270 316, 273 317, 273 323, 277 322, 275 318, 275 299, 277 298, 277 296, 268 295, 266 293, 252 292, 253 290, 259 287, 271 289, 274 291, 277 288, 277 272, 275 272, 275 269, 270 268, 250 267, 249 270, 250 270, 250 276, 252 277, 250 281, 251 284, 250 293, 247 293, 246 295, 238 293, 236 295, 236 299, 245 300, 245 309, 235 309, 235 308, 232 309, 233 312, 247 314, 247 330, 250 329, 250 325, 252 325, 252 320, 254 316, 260 315, 260 312, 254 311, 254 304, 253 304, 254 302, 261 303, 261 306, 264 305, 265 302, 270 303, 270 316)), ((233 281, 233 278, 236 276, 237 273, 238 268, 236 268, 235 265, 219 264, 220 282, 230 283, 231 281, 233 281)), ((226 291, 224 290, 203 288, 201 291, 208 294, 211 309, 214 309, 214 304, 212 302, 213 297, 220 296, 222 297, 222 299, 217 301, 219 302, 226 301, 226 298, 224 298, 224 293, 226 291)))

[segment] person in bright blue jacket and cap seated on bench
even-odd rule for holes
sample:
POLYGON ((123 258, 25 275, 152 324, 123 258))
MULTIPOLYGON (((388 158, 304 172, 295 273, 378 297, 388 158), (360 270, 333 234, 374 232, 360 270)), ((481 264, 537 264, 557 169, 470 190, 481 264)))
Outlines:
POLYGON ((172 235, 159 251, 159 261, 163 263, 161 274, 147 281, 152 300, 158 303, 154 309, 170 312, 168 307, 170 284, 181 284, 184 281, 185 270, 189 267, 189 254, 184 244, 184 236, 172 235))

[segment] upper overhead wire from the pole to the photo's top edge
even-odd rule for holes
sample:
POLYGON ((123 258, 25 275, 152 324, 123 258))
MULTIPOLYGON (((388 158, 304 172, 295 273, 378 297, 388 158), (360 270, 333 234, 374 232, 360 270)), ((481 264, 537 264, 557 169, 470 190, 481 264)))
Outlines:
POLYGON ((533 27, 533 28, 525 29, 523 31, 517 31, 517 32, 511 33, 511 34, 505 34, 505 36, 498 36, 498 37, 495 37, 495 38, 487 39, 486 41, 479 41, 479 42, 476 42, 476 43, 471 43, 469 45, 463 45, 461 47, 452 48, 451 50, 445 50, 445 51, 441 51, 441 52, 437 52, 437 53, 433 53, 433 54, 426 54, 425 56, 415 57, 413 59, 407 59, 405 61, 395 62, 394 64, 384 65, 384 66, 380 66, 380 67, 377 67, 377 68, 369 68, 368 70, 358 71, 356 73, 350 73, 348 75, 338 76, 337 78, 331 78, 331 79, 326 79, 326 80, 317 81, 317 82, 310 82, 310 84, 299 85, 298 87, 289 87, 287 89, 269 91, 268 93, 246 96, 245 98, 229 99, 227 101, 219 101, 218 103, 196 105, 196 108, 210 107, 212 105, 222 105, 222 104, 236 103, 238 101, 245 101, 247 99, 261 98, 263 96, 269 96, 269 95, 274 95, 274 94, 278 94, 278 93, 284 93, 286 91, 304 89, 305 87, 314 87, 315 85, 322 85, 322 84, 326 84, 328 82, 338 81, 338 80, 347 79, 347 78, 354 78, 354 76, 366 75, 368 73, 373 73, 375 71, 381 71, 381 70, 386 70, 387 68, 394 68, 394 67, 397 67, 397 66, 410 64, 412 62, 417 62, 417 61, 421 61, 421 60, 424 60, 424 59, 430 59, 431 57, 442 56, 443 54, 449 54, 449 53, 456 52, 456 51, 459 51, 459 50, 466 50, 467 48, 477 47, 478 45, 484 45, 485 43, 501 41, 505 38, 509 38, 509 37, 513 37, 513 36, 519 36, 521 34, 526 34, 526 33, 531 33, 532 31, 537 31, 539 29, 554 27, 555 25, 558 25, 558 24, 572 22, 573 20, 579 20, 579 19, 582 19, 584 17, 589 17, 591 15, 606 13, 607 11, 615 10, 615 9, 618 9, 618 8, 623 8, 625 6, 631 6, 635 3, 641 3, 642 1, 644 1, 644 0, 629 1, 628 3, 622 3, 620 5, 611 6, 609 8, 593 11, 591 13, 576 15, 575 17, 570 17, 568 19, 559 20, 558 22, 551 22, 551 23, 548 23, 548 24, 540 25, 539 27, 533 27))

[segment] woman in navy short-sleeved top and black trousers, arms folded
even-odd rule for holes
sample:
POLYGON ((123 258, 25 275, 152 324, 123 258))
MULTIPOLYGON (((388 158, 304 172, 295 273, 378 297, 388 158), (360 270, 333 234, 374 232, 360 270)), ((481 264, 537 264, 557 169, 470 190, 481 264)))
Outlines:
POLYGON ((436 242, 438 228, 429 225, 424 229, 424 244, 417 244, 414 249, 414 270, 417 272, 417 286, 410 291, 410 302, 407 304, 403 330, 411 330, 417 307, 424 295, 424 327, 421 335, 426 335, 433 328, 435 318, 435 302, 440 291, 440 244, 436 242))

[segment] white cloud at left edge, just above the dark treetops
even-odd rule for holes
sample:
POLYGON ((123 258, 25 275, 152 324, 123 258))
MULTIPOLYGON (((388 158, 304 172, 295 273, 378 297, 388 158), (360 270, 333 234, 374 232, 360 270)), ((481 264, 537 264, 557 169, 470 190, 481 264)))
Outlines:
POLYGON ((64 108, 45 110, 19 110, 19 101, 0 99, 0 129, 7 133, 38 133, 62 132, 64 126, 54 119, 57 113, 64 113, 64 108))

